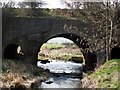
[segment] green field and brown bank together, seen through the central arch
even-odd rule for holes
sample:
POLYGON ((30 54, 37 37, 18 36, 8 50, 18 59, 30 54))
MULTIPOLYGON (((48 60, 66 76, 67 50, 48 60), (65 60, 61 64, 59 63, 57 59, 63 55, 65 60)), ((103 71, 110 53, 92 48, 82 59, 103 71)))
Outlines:
POLYGON ((66 60, 73 61, 72 57, 78 57, 83 61, 83 55, 75 44, 43 44, 41 51, 38 53, 38 59, 46 60, 66 60))

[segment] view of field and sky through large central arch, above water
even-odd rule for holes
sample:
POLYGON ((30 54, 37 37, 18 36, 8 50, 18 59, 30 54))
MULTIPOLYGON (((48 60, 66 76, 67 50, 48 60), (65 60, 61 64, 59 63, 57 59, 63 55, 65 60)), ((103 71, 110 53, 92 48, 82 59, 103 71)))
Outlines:
POLYGON ((49 58, 74 61, 85 64, 82 48, 78 45, 79 40, 72 34, 58 35, 48 39, 39 49, 38 59, 46 60, 49 58), (78 42, 78 43, 77 43, 78 42))

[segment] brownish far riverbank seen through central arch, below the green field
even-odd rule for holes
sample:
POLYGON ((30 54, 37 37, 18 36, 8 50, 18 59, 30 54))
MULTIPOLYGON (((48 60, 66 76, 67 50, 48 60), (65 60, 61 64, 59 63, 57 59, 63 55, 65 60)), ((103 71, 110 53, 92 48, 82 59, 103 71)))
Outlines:
POLYGON ((65 60, 72 61, 72 57, 79 57, 80 62, 83 61, 83 55, 79 48, 64 47, 56 49, 44 49, 38 54, 38 59, 54 59, 54 60, 65 60))

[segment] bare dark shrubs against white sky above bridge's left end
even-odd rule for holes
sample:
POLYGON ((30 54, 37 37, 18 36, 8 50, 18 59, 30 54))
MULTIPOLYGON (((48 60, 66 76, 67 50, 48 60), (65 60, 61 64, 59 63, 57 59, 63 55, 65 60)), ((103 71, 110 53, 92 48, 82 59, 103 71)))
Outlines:
POLYGON ((8 1, 1 3, 3 16, 39 17, 45 15, 42 6, 46 5, 42 0, 24 0, 22 2, 8 1))

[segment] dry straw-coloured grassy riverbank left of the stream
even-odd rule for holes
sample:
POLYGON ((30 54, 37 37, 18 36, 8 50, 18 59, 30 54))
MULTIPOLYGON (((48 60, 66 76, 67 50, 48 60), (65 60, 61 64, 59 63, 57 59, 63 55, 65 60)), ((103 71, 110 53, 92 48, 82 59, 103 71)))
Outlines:
POLYGON ((48 77, 41 68, 22 61, 3 60, 0 88, 37 88, 48 77))

